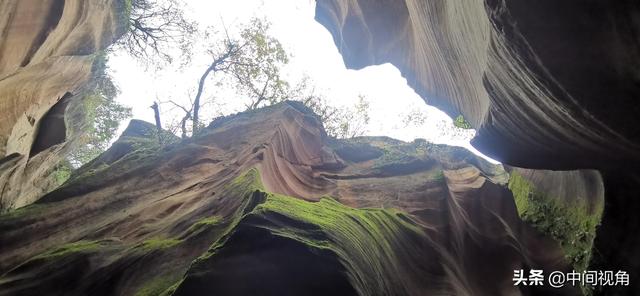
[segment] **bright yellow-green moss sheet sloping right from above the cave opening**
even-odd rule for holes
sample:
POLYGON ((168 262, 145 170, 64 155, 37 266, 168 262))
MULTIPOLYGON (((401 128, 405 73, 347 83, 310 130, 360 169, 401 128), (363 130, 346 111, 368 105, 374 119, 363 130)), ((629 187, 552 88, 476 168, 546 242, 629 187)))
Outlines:
POLYGON ((259 227, 275 235, 336 254, 359 295, 409 294, 396 285, 397 272, 420 253, 419 244, 408 242, 426 235, 405 213, 354 209, 328 197, 308 202, 268 193, 251 215, 269 221, 259 227))

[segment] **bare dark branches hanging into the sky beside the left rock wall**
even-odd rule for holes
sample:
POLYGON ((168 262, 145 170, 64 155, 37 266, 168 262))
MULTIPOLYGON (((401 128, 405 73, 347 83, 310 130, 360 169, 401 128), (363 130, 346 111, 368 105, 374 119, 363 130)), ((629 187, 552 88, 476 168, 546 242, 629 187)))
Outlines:
POLYGON ((197 31, 194 22, 184 16, 180 0, 127 0, 128 28, 117 45, 134 58, 158 65, 172 62, 176 44, 183 54, 189 54, 191 37, 197 31))

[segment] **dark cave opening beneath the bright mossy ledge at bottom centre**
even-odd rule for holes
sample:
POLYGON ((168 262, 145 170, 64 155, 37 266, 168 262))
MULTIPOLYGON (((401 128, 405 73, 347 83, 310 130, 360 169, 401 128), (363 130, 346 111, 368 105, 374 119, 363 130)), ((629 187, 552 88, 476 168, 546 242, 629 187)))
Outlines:
POLYGON ((343 264, 327 250, 241 225, 225 246, 187 273, 174 295, 355 296, 343 264))

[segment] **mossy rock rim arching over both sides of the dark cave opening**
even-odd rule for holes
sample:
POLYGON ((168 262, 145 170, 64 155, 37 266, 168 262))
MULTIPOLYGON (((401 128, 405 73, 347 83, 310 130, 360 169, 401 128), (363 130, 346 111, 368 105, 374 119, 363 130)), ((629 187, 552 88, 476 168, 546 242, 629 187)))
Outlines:
POLYGON ((354 209, 325 197, 318 202, 264 192, 255 169, 229 183, 221 194, 242 200, 225 233, 196 259, 187 277, 205 277, 216 254, 237 229, 257 227, 295 240, 312 252, 333 254, 359 295, 409 294, 398 274, 416 267, 428 238, 409 215, 394 209, 354 209), (241 195, 238 195, 241 194, 241 195))

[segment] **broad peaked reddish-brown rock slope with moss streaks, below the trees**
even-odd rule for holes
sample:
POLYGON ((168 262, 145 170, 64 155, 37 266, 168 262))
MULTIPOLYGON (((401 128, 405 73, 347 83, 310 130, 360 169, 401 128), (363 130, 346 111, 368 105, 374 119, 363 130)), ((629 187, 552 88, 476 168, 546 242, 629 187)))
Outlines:
POLYGON ((507 174, 461 148, 329 140, 299 103, 158 147, 133 122, 37 203, 0 216, 0 294, 574 295, 507 174), (361 153, 354 153, 361 152, 361 153))

